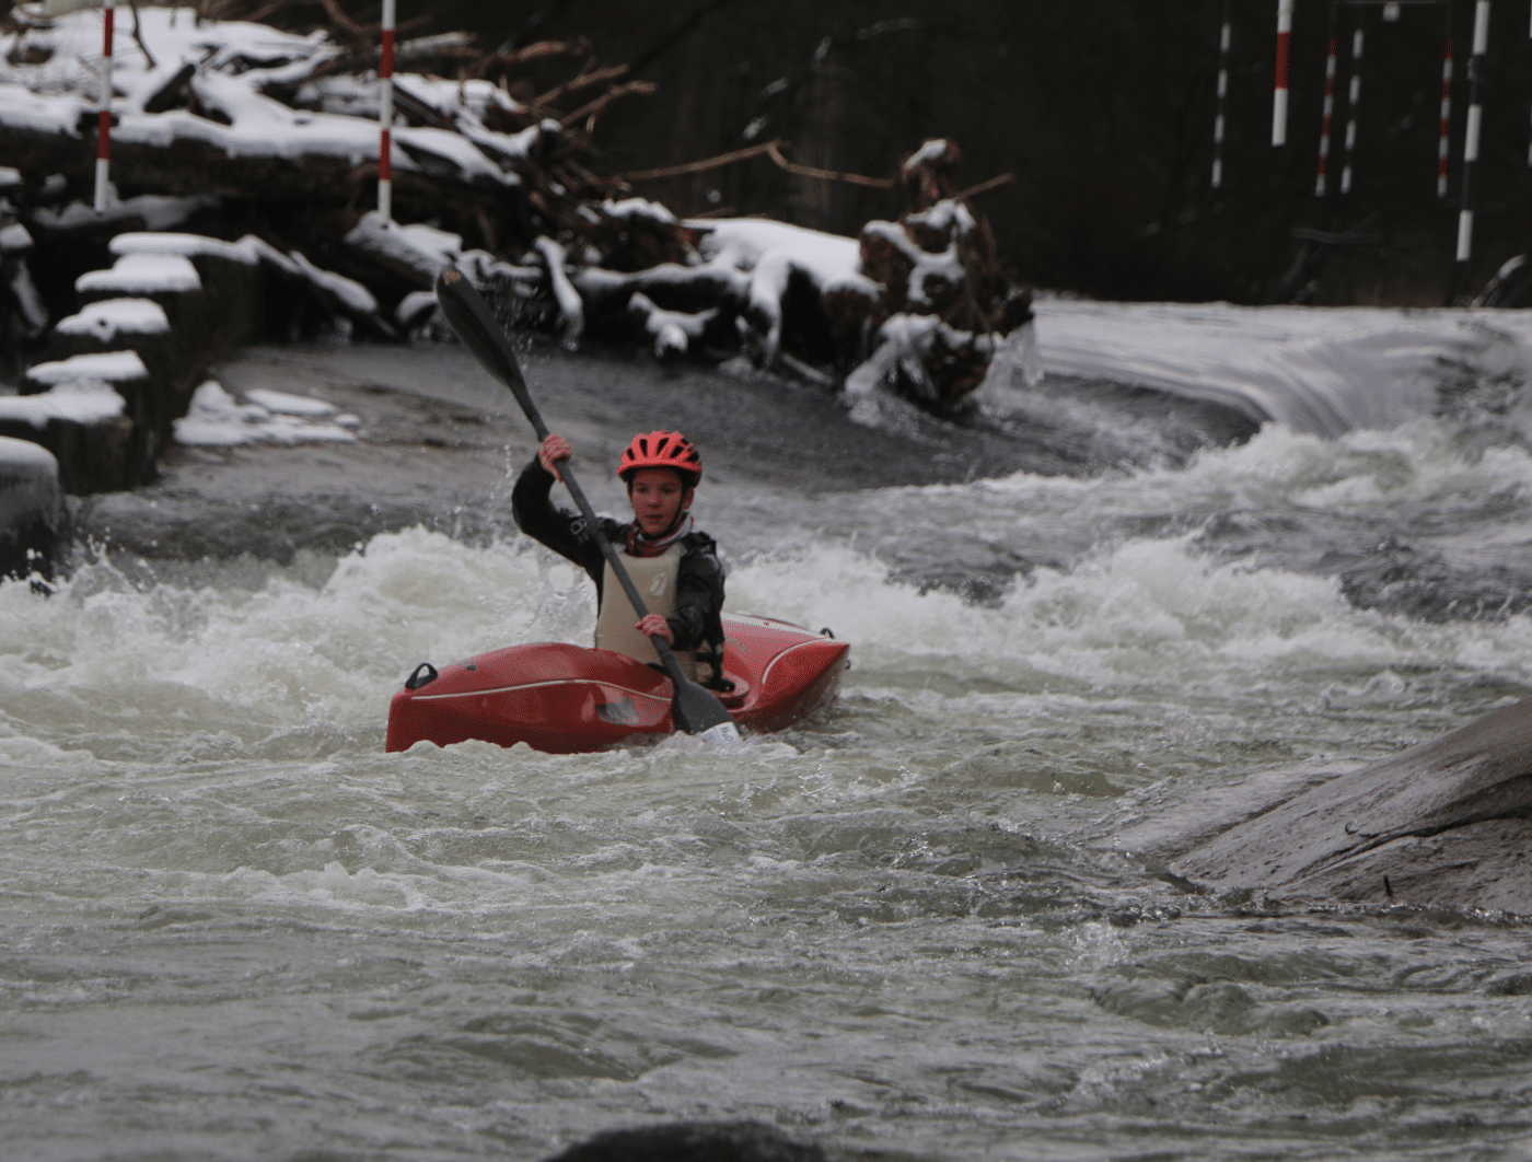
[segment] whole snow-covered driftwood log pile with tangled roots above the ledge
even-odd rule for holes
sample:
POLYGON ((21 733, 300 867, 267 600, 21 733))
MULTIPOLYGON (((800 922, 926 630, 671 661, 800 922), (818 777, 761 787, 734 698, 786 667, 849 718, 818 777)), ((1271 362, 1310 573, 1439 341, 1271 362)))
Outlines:
MULTIPOLYGON (((902 185, 908 211, 856 239, 764 219, 680 220, 591 168, 596 118, 653 86, 619 83, 625 67, 599 67, 584 41, 478 52, 463 34, 418 37, 397 46, 391 162, 403 220, 391 222, 368 210, 380 161, 374 28, 346 18, 334 34, 299 35, 193 9, 119 15, 112 175, 135 196, 109 191, 101 216, 67 202, 93 171, 101 12, 20 5, 0 34, 0 156, 12 167, 0 170, 0 199, 12 190, 25 205, 12 220, 0 202, 0 260, 12 299, 32 303, 26 337, 46 326, 28 280, 34 236, 106 237, 135 224, 153 233, 113 242, 116 263, 84 274, 81 297, 164 300, 193 289, 205 259, 231 259, 286 280, 342 334, 355 325, 423 340, 446 331, 430 288, 450 263, 502 322, 567 348, 591 335, 651 343, 660 358, 743 349, 758 366, 844 383, 861 418, 878 392, 951 407, 1031 317, 1000 276, 987 222, 953 190, 948 141, 921 145, 895 178, 858 179, 902 185), (541 96, 524 75, 507 84, 552 60, 576 70, 541 96), (230 194, 264 207, 245 216, 267 237, 162 233, 230 194)), ((109 322, 98 312, 72 326, 109 322)))

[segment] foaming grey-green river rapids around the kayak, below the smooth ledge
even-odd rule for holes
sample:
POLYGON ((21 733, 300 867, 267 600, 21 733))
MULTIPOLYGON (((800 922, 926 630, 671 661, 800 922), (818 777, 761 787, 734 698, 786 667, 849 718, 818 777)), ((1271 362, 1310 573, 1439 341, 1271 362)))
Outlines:
POLYGON ((587 640, 509 534, 0 585, 0 1154, 1532 1157, 1532 931, 1187 894, 1111 822, 1532 694, 1507 383, 1080 479, 715 488, 729 608, 853 658, 738 753, 385 755, 415 663, 587 640))

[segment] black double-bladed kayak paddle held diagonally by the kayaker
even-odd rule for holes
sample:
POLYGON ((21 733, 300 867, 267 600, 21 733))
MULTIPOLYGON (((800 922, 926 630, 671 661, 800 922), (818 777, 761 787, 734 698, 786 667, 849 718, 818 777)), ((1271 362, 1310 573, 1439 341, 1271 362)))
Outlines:
MULTIPOLYGON (((521 410, 532 421, 533 432, 538 433, 538 441, 547 439, 548 426, 542 423, 542 413, 532 401, 532 392, 527 390, 527 381, 521 375, 521 364, 516 363, 516 352, 512 351, 510 340, 506 338, 506 332, 489 312, 483 295, 473 289, 473 283, 461 271, 447 266, 437 276, 437 303, 447 322, 452 323, 452 329, 458 332, 458 338, 473 352, 484 370, 506 384, 516 397, 521 410)), ((585 517, 587 536, 596 537, 607 563, 622 582, 622 591, 628 596, 639 617, 647 617, 648 606, 624 568, 616 547, 597 531, 596 513, 591 511, 585 491, 576 482, 574 473, 570 472, 568 461, 561 465, 561 473, 564 487, 570 490, 570 496, 579 505, 581 516, 585 517)), ((729 712, 723 709, 719 697, 680 672, 680 663, 663 637, 654 634, 650 641, 654 643, 654 649, 665 664, 665 672, 676 686, 676 697, 671 700, 671 721, 688 735, 700 735, 708 743, 726 747, 738 746, 741 741, 740 729, 734 724, 729 712)))

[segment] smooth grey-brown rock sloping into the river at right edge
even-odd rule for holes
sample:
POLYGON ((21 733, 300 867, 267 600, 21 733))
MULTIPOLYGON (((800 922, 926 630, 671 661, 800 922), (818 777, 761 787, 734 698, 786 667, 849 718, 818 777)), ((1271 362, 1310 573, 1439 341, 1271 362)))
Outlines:
POLYGON ((1532 916, 1532 698, 1339 775, 1187 853, 1215 891, 1532 916))

